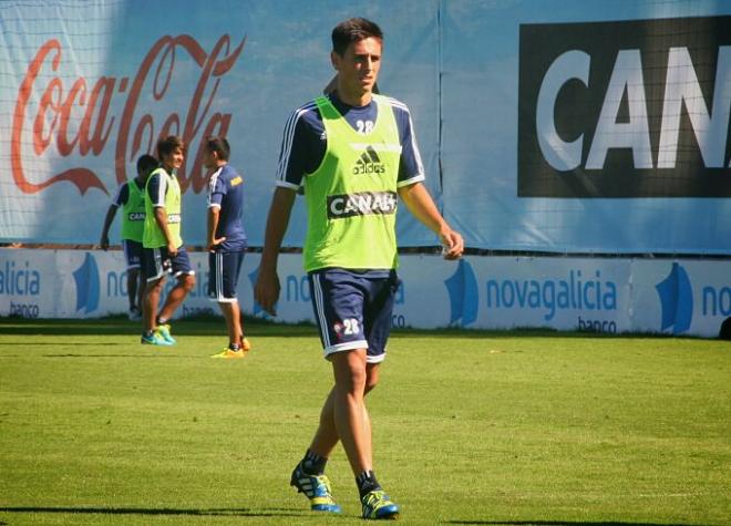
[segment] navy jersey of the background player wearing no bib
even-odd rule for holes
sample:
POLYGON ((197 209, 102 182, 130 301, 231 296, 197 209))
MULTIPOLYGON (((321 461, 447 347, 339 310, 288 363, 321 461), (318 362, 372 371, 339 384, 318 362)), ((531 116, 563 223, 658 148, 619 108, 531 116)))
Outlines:
POLYGON ((208 181, 208 208, 220 208, 216 238, 225 237, 220 249, 243 250, 246 247, 244 215, 244 178, 226 164, 210 175, 208 181))

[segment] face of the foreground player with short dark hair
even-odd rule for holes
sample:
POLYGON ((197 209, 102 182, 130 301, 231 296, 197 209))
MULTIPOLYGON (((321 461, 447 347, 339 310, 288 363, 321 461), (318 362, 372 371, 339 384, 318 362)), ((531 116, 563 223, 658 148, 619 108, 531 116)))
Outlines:
POLYGON ((373 92, 381 69, 381 41, 369 37, 351 42, 342 56, 332 53, 332 65, 339 76, 338 89, 343 92, 341 96, 362 99, 373 92))

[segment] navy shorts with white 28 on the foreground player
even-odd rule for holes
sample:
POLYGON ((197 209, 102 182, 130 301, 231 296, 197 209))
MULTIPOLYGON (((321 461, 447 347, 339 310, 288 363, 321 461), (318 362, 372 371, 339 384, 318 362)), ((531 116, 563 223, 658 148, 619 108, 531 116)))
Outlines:
POLYGON ((330 268, 309 274, 326 358, 333 352, 367 349, 368 363, 385 359, 393 299, 400 283, 395 270, 385 272, 330 268))

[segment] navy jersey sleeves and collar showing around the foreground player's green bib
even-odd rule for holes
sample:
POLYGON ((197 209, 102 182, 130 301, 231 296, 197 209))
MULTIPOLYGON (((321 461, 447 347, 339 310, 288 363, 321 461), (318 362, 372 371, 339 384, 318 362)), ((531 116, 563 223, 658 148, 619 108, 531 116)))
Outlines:
MULTIPOLYGON (((371 101, 364 106, 349 106, 334 93, 328 96, 353 130, 368 135, 373 128, 378 115, 375 101, 371 101)), ((424 179, 424 167, 416 145, 411 114, 402 102, 390 99, 390 103, 403 148, 399 164, 399 186, 412 185, 424 179)), ((302 177, 313 173, 322 162, 327 140, 322 117, 315 102, 295 110, 285 126, 277 171, 277 186, 299 189, 302 186, 302 177)))

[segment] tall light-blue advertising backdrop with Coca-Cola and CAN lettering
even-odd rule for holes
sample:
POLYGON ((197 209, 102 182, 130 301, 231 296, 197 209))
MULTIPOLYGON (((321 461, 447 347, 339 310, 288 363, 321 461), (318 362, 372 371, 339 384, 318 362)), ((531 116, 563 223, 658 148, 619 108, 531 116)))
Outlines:
MULTIPOLYGON (((177 134, 183 237, 203 245, 217 134, 260 246, 287 117, 332 78, 330 31, 353 16, 384 31, 380 89, 411 109, 469 247, 731 254, 729 0, 6 1, 0 241, 96 243, 136 158, 177 134)), ((298 203, 285 245, 306 225, 298 203)), ((436 243, 399 213, 400 246, 436 243)))

